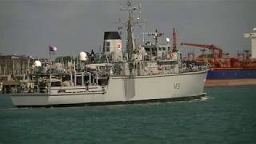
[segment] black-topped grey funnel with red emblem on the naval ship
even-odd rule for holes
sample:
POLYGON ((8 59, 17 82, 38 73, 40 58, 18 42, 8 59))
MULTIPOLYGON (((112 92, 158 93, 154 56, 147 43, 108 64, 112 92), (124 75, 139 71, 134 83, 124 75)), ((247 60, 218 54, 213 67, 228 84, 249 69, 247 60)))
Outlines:
POLYGON ((109 61, 122 61, 122 39, 118 31, 104 33, 103 53, 109 61))

